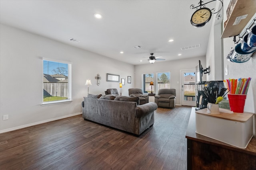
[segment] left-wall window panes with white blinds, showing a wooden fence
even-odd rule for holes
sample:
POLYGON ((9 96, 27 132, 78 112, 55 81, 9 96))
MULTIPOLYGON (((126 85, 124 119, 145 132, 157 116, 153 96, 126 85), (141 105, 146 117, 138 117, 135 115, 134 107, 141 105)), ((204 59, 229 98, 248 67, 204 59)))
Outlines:
POLYGON ((43 104, 71 101, 71 64, 43 59, 43 104))

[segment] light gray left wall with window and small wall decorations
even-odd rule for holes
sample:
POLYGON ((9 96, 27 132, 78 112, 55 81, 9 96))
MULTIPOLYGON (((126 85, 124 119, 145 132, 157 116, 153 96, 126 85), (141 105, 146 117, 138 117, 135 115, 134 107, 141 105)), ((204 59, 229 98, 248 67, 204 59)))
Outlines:
POLYGON ((106 73, 119 74, 126 80, 132 76, 122 95, 128 96, 128 88, 134 86, 134 65, 2 24, 0 37, 0 132, 80 114, 81 102, 87 96, 86 79, 92 81, 92 94, 104 94, 107 88, 120 91, 118 82, 106 81, 106 73), (73 102, 41 106, 42 57, 72 63, 73 102), (96 85, 97 74, 102 77, 100 86, 96 85), (3 121, 3 115, 9 115, 9 119, 3 121))

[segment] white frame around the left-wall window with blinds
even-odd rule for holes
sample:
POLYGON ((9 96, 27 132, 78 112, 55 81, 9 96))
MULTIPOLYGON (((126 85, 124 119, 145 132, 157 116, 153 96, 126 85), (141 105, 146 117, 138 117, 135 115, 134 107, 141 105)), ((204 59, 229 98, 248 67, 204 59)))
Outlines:
MULTIPOLYGON (((67 62, 67 61, 48 59, 48 58, 42 58, 42 63, 44 62, 44 60, 68 64, 68 99, 44 102, 44 82, 42 82, 42 104, 41 104, 41 106, 49 106, 49 105, 64 104, 64 103, 72 102, 72 88, 71 88, 71 84, 72 84, 72 82, 71 82, 71 80, 72 80, 72 78, 71 78, 71 65, 72 65, 72 63, 67 62)), ((44 65, 42 66, 42 68, 44 69, 44 65)), ((44 75, 44 70, 43 70, 43 75, 44 75)))

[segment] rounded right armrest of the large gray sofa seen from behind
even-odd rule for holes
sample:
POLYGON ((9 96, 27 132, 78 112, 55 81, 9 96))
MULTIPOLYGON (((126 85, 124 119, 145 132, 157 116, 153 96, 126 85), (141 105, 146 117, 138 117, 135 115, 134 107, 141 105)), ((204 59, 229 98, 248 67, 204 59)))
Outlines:
POLYGON ((144 117, 157 109, 157 104, 154 102, 146 103, 136 107, 135 117, 144 117))

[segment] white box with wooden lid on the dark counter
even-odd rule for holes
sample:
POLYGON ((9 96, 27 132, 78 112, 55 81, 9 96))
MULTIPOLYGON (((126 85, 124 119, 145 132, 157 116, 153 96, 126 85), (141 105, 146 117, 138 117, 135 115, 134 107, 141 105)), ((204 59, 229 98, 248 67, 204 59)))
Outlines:
POLYGON ((196 111, 196 133, 245 149, 253 136, 253 113, 206 113, 196 111))

